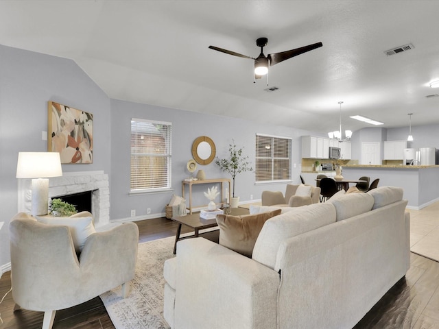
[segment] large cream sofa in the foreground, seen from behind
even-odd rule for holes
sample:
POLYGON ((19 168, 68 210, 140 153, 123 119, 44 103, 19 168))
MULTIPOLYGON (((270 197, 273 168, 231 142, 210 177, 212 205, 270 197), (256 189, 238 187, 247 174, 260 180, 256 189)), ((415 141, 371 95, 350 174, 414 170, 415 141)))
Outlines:
POLYGON ((337 195, 265 221, 252 258, 203 238, 165 262, 171 328, 352 328, 410 267, 401 188, 337 195))

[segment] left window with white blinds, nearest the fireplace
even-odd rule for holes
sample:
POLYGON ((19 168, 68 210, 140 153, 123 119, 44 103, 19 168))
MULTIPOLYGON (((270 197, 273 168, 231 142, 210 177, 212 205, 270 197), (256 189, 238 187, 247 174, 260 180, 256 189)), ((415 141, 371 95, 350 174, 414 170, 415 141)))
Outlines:
POLYGON ((131 192, 171 188, 171 123, 131 119, 131 192))

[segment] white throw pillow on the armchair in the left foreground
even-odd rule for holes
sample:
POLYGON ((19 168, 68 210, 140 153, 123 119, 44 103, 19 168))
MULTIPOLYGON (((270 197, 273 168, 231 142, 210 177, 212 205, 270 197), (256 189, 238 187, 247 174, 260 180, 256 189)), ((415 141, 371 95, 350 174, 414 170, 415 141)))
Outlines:
POLYGON ((70 234, 75 245, 77 253, 82 252, 85 241, 88 236, 95 233, 95 226, 93 225, 93 217, 40 217, 36 216, 40 223, 47 225, 63 225, 69 226, 70 234))

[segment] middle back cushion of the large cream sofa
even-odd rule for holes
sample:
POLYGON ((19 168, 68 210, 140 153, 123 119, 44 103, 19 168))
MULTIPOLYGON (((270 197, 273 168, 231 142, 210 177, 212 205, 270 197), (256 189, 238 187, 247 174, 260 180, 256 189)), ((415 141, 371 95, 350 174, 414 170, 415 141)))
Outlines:
POLYGON ((328 200, 337 212, 337 221, 360 215, 372 210, 374 199, 367 193, 349 193, 337 199, 328 200))

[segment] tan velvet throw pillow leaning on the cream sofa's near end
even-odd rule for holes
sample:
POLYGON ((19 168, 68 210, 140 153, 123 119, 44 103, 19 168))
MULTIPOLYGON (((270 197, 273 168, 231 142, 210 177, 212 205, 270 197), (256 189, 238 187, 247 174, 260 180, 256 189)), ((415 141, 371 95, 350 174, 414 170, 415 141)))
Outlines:
POLYGON ((254 243, 268 219, 280 215, 281 209, 256 215, 217 215, 219 244, 247 257, 253 253, 254 243))

